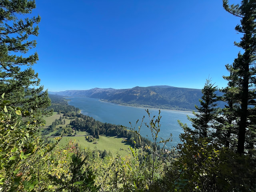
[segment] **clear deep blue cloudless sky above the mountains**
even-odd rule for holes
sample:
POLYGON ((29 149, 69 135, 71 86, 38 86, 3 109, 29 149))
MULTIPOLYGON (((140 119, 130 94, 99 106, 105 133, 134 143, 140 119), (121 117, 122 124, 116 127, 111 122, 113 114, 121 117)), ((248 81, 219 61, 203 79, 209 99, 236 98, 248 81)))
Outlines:
MULTIPOLYGON (((230 3, 238 3, 230 0, 230 3)), ((36 0, 34 69, 49 91, 226 86, 240 23, 222 0, 36 0)))

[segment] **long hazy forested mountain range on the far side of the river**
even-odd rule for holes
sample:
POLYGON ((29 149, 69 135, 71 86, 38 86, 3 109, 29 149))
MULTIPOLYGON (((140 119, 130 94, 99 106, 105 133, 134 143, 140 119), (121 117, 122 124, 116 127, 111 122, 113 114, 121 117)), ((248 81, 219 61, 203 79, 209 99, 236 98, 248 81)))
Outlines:
MULTIPOLYGON (((202 97, 200 89, 172 86, 134 87, 130 89, 93 88, 49 92, 63 96, 99 98, 117 104, 176 110, 195 110, 202 97)), ((218 92, 218 95, 221 93, 218 92)))

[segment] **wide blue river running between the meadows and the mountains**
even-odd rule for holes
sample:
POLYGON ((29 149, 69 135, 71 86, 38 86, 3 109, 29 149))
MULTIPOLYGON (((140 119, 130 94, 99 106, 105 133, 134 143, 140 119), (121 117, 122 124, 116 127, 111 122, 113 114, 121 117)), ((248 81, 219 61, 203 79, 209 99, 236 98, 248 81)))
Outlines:
MULTIPOLYGON (((132 126, 135 126, 136 121, 139 119, 138 126, 141 124, 143 116, 145 116, 144 122, 149 122, 148 115, 145 108, 138 108, 132 106, 122 106, 118 104, 113 104, 110 102, 103 102, 99 99, 86 98, 86 97, 72 97, 69 98, 68 102, 70 105, 78 107, 82 110, 82 114, 93 117, 101 122, 108 122, 112 124, 120 124, 131 128, 129 122, 132 126)), ((158 109, 149 109, 151 116, 158 116, 158 109)), ((172 142, 168 146, 175 146, 180 142, 179 134, 183 132, 182 128, 179 126, 177 120, 182 123, 188 124, 191 127, 191 122, 188 120, 187 115, 193 117, 192 112, 188 111, 178 111, 178 110, 161 110, 162 116, 160 120, 160 133, 158 138, 168 138, 172 134, 172 142)), ((140 134, 152 140, 150 130, 142 125, 140 134)))

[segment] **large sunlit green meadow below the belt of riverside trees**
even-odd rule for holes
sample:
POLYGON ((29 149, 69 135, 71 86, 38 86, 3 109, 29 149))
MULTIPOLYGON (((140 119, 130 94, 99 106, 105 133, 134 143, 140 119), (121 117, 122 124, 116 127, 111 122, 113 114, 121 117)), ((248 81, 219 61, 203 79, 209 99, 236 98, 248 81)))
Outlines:
MULTIPOLYGON (((79 132, 81 133, 81 132, 79 132)), ((77 134, 78 135, 78 134, 77 134)), ((54 138, 49 138, 50 140, 54 140, 54 138)), ((122 138, 116 138, 116 137, 110 137, 110 136, 100 136, 99 139, 97 139, 98 144, 93 144, 93 142, 88 142, 85 139, 85 136, 66 136, 63 137, 62 140, 60 140, 59 145, 65 145, 68 141, 72 140, 79 143, 81 148, 90 148, 91 150, 94 149, 96 146, 99 150, 110 151, 113 155, 116 155, 117 152, 121 156, 128 155, 128 148, 129 145, 126 142, 122 142, 122 138)))

